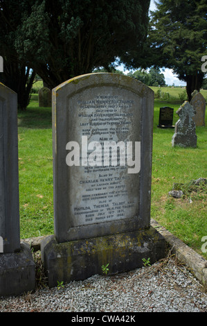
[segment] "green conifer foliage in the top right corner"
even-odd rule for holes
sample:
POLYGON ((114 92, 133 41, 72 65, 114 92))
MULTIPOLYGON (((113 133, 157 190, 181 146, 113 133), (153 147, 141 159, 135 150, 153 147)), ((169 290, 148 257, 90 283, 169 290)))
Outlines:
POLYGON ((190 100, 200 89, 201 57, 207 46, 206 0, 156 1, 142 66, 168 67, 187 84, 190 100))

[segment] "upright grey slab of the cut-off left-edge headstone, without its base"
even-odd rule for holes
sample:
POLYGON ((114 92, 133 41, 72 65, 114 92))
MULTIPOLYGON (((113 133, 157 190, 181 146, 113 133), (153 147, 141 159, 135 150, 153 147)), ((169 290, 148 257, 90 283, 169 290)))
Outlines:
POLYGON ((20 249, 17 94, 0 83, 0 236, 3 252, 20 249))

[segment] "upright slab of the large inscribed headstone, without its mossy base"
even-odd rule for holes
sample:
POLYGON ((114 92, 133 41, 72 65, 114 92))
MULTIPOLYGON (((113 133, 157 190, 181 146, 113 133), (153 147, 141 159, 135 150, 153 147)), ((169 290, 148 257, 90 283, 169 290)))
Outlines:
MULTIPOLYGON (((119 74, 78 76, 53 89, 53 180, 55 237, 58 242, 132 231, 150 225, 152 90, 119 74), (70 141, 82 136, 141 142, 137 173, 129 166, 68 166, 70 141), (140 170, 140 171, 139 171, 140 170)), ((89 153, 90 151, 88 151, 89 153)), ((85 156, 87 156, 87 154, 85 156)))

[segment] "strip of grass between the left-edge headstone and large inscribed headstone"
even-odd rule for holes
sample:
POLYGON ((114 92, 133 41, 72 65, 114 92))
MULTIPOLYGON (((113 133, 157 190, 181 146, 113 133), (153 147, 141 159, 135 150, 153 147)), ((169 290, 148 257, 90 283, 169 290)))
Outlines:
POLYGON ((53 232, 51 108, 39 108, 37 99, 18 114, 21 238, 53 232))

